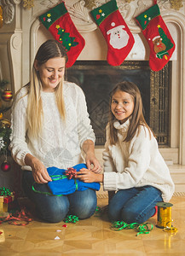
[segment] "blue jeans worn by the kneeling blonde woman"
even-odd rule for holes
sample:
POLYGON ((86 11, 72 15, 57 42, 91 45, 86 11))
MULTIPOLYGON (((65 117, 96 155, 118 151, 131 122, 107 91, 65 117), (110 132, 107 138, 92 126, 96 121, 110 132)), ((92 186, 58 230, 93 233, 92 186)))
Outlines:
MULTIPOLYGON (((38 217, 47 222, 60 222, 67 214, 76 215, 81 219, 90 218, 95 212, 97 197, 93 189, 75 191, 71 195, 52 196, 34 192, 33 183, 32 172, 24 171, 22 188, 26 196, 35 203, 38 217)), ((36 183, 36 186, 38 191, 50 192, 47 183, 36 183)))

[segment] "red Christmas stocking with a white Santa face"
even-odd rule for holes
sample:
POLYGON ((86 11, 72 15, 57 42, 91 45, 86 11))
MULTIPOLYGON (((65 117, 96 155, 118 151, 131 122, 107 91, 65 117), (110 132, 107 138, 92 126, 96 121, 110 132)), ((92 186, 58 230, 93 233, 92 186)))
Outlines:
POLYGON ((134 38, 119 13, 116 1, 105 3, 90 13, 107 41, 107 62, 119 66, 132 49, 134 38))

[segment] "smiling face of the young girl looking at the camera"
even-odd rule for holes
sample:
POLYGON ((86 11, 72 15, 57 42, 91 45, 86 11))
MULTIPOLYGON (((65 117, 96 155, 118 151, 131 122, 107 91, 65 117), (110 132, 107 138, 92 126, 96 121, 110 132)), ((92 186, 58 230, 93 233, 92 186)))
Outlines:
POLYGON ((117 90, 111 102, 111 111, 121 124, 130 117, 134 110, 134 99, 129 93, 117 90))

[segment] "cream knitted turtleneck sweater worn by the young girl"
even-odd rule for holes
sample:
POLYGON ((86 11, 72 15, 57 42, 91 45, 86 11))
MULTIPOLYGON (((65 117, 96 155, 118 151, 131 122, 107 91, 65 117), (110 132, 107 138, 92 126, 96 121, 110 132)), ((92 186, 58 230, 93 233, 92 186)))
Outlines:
POLYGON ((141 125, 139 135, 125 143, 129 125, 129 119, 122 125, 119 121, 114 123, 119 130, 116 145, 110 145, 107 125, 107 143, 103 152, 104 189, 111 191, 151 185, 161 190, 164 201, 170 201, 175 186, 155 137, 152 135, 150 139, 149 131, 141 125))

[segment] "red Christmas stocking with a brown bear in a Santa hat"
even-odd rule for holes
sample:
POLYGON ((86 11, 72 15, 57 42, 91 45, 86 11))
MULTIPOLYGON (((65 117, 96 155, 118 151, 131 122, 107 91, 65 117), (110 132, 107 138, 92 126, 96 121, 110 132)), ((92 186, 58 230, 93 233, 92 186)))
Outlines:
POLYGON ((153 71, 159 71, 170 61, 175 43, 160 15, 157 1, 154 0, 151 8, 136 16, 136 21, 142 27, 142 33, 150 47, 149 66, 153 71))

